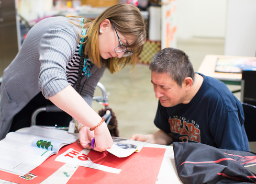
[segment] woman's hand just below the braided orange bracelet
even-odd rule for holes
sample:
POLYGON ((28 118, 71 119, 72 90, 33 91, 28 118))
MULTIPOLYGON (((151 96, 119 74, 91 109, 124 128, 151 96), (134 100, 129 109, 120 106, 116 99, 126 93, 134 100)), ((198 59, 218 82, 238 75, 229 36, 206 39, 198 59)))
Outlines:
POLYGON ((106 149, 110 149, 112 147, 113 140, 106 123, 102 123, 94 130, 94 136, 95 151, 106 151, 106 149))

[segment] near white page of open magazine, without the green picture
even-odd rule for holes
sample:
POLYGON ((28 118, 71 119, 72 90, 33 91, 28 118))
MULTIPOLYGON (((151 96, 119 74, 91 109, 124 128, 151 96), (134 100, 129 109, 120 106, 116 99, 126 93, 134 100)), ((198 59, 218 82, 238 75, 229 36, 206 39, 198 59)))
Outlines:
POLYGON ((3 139, 0 141, 0 170, 16 175, 25 175, 55 153, 3 139))

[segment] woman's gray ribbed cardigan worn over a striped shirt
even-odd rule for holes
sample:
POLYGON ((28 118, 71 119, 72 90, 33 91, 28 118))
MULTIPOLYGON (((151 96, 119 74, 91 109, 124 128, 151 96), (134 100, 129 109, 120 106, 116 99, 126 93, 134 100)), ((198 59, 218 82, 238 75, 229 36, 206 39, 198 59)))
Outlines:
MULTIPOLYGON (((51 17, 38 22, 29 31, 13 62, 4 70, 0 87, 0 140, 8 133, 15 114, 40 91, 48 99, 69 85, 66 64, 75 53, 79 43, 77 31, 81 33, 81 28, 68 20, 66 17, 51 17)), ((105 66, 98 68, 93 65, 91 77, 82 77, 81 83, 86 82, 79 91, 82 90, 81 96, 90 106, 104 71, 105 66)))

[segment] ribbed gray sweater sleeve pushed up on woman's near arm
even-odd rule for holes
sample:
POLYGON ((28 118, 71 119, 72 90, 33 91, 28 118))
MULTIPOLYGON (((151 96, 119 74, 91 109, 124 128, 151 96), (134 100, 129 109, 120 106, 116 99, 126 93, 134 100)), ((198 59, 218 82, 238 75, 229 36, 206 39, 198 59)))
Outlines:
POLYGON ((39 43, 39 88, 45 98, 59 93, 69 85, 66 79, 66 63, 75 52, 77 32, 70 29, 49 29, 39 43))

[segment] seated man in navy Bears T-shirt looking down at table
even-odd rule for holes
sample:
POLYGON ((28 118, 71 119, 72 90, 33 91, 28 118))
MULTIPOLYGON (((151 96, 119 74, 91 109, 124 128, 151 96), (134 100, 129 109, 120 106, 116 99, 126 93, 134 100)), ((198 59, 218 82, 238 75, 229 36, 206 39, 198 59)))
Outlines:
POLYGON ((194 73, 181 50, 166 48, 149 67, 159 99, 154 134, 135 134, 131 140, 170 145, 195 142, 223 149, 250 151, 241 102, 219 80, 194 73))

